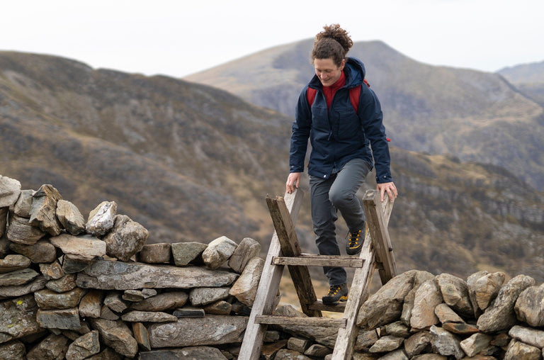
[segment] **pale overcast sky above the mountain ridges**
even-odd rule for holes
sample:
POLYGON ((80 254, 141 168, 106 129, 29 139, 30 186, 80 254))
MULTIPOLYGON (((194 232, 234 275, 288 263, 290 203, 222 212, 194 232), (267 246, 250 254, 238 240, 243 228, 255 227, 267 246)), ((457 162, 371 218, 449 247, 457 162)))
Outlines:
POLYGON ((544 60, 543 0, 12 0, 1 11, 0 50, 146 75, 183 77, 331 23, 428 64, 544 60))

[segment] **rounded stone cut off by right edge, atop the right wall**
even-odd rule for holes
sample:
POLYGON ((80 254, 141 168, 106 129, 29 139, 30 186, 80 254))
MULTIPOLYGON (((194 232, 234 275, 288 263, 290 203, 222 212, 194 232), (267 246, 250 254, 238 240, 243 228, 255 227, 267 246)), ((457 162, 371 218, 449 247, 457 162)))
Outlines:
POLYGON ((516 317, 532 327, 544 326, 544 284, 529 286, 514 304, 516 317))

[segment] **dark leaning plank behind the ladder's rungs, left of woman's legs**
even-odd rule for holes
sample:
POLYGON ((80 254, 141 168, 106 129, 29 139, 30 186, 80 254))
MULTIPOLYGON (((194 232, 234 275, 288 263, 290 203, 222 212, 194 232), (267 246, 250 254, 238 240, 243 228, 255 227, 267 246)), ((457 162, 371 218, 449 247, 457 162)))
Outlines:
MULTIPOLYGON (((278 234, 281 252, 284 257, 293 257, 300 255, 300 244, 298 243, 295 225, 289 215, 287 206, 282 197, 266 198, 266 204, 270 210, 274 228, 278 234)), ((314 286, 312 286, 312 278, 310 271, 306 266, 288 266, 289 274, 293 279, 293 285, 297 291, 297 296, 300 300, 300 308, 302 313, 308 316, 321 316, 319 310, 311 310, 309 305, 315 303, 317 296, 315 295, 314 286)))

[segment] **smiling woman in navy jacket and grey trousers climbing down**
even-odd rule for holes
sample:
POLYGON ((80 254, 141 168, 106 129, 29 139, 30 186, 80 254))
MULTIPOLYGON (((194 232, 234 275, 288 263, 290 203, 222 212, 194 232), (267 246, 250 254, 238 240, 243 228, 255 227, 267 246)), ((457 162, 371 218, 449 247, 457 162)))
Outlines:
MULTIPOLYGON (((312 223, 322 255, 340 255, 334 224, 337 210, 349 229, 346 252, 350 255, 361 252, 365 214, 356 192, 373 163, 381 200, 385 193, 391 199, 397 197, 380 101, 365 85, 363 63, 346 57, 352 45, 348 33, 338 24, 324 26, 316 35, 312 50, 315 75, 299 96, 291 136, 290 174, 285 187, 288 193, 298 188, 310 137, 312 152, 308 174, 312 223), (361 90, 358 103, 353 105, 349 89, 356 87, 361 90)), ((324 267, 324 273, 330 288, 322 298, 323 303, 347 300, 344 268, 328 266, 324 267)))

